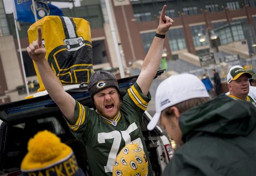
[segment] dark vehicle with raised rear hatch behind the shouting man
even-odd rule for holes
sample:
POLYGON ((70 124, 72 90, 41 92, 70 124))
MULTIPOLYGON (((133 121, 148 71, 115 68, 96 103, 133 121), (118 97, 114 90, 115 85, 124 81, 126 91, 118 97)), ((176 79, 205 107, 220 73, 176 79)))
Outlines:
MULTIPOLYGON (((161 75, 163 71, 158 71, 161 75)), ((127 92, 136 81, 137 76, 118 80, 122 94, 127 92)), ((87 86, 67 91, 81 104, 92 107, 87 86)), ((173 156, 173 150, 166 136, 159 127, 148 131, 146 125, 151 116, 145 112, 143 118, 143 135, 152 168, 156 176, 160 175, 173 156)), ((27 142, 38 131, 49 130, 69 145, 77 158, 79 167, 86 175, 91 175, 88 167, 85 147, 71 134, 61 112, 49 95, 16 101, 0 105, 0 176, 20 175, 20 163, 27 153, 27 142)))

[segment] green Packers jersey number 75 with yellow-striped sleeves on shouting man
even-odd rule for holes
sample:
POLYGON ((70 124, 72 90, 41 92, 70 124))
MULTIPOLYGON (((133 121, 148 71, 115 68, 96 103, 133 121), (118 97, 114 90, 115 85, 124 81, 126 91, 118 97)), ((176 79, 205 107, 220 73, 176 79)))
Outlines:
MULTIPOLYGON (((112 176, 117 154, 131 141, 143 147, 149 161, 141 123, 150 98, 150 94, 143 95, 135 83, 123 97, 120 110, 113 119, 102 117, 95 110, 76 102, 76 122, 68 125, 86 148, 93 176, 112 176)), ((148 175, 152 175, 150 164, 148 175)))

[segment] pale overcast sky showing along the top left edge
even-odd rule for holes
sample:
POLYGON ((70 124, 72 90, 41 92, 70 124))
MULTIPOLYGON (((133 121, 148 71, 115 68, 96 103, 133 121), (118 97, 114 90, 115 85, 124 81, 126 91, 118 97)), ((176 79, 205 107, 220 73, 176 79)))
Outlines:
MULTIPOLYGON (((4 9, 6 14, 12 14, 13 12, 13 0, 3 0, 4 9)), ((72 8, 72 3, 64 3, 64 2, 52 2, 52 5, 57 6, 58 8, 72 8)), ((75 0, 75 7, 81 6, 80 0, 75 0)))

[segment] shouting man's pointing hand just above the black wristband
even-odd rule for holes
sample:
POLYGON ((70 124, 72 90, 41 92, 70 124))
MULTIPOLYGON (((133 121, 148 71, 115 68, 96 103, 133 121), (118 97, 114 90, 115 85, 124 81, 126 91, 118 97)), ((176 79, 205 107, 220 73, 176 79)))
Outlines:
POLYGON ((174 23, 172 18, 165 15, 166 8, 167 6, 164 5, 160 15, 159 25, 157 27, 157 34, 165 35, 165 33, 169 30, 169 28, 174 23))

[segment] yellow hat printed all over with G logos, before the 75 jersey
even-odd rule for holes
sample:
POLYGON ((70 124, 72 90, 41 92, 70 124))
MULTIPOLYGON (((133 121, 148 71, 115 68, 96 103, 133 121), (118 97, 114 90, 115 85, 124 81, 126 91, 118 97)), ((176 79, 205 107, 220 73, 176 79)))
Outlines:
POLYGON ((113 176, 147 176, 148 161, 137 143, 130 142, 119 154, 113 165, 113 176))

